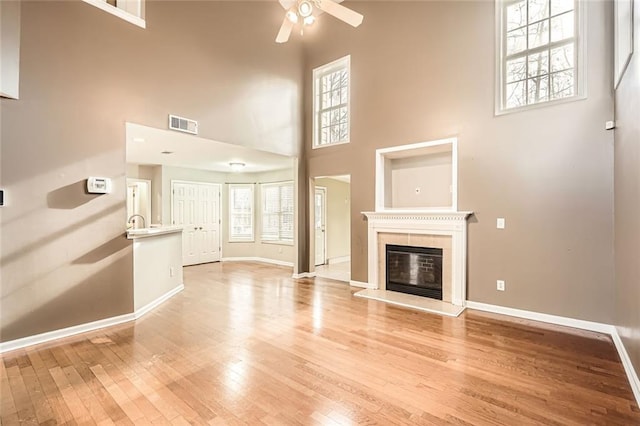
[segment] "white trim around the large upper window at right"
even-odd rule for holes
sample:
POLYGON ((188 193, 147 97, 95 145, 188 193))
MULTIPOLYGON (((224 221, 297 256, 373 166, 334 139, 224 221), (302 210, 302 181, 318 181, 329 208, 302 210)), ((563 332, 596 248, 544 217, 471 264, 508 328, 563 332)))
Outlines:
POLYGON ((576 16, 576 94, 562 99, 555 99, 553 101, 538 102, 531 105, 523 105, 517 108, 505 108, 503 106, 504 99, 504 86, 502 84, 504 78, 504 67, 502 60, 503 52, 505 49, 504 38, 502 34, 502 27, 504 25, 504 7, 506 3, 512 3, 513 0, 495 0, 495 42, 496 42, 496 62, 495 62, 495 115, 505 115, 514 112, 527 111, 535 108, 544 108, 558 104, 564 104, 567 102, 575 102, 587 99, 587 1, 576 0, 575 16, 576 16))

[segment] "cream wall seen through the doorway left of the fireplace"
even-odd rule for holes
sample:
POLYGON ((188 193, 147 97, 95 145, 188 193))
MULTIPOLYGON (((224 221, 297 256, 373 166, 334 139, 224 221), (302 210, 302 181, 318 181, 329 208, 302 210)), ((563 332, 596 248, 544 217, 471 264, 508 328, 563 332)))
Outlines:
POLYGON ((327 259, 351 255, 351 191, 347 182, 336 179, 320 178, 316 186, 327 188, 326 195, 326 231, 327 259))

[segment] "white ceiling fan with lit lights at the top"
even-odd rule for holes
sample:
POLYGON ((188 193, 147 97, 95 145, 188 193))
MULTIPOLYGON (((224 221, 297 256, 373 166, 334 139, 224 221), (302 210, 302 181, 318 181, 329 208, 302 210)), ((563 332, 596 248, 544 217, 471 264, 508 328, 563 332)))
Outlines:
POLYGON ((286 43, 291 35, 291 30, 298 22, 301 22, 304 28, 305 25, 313 24, 316 16, 322 12, 326 12, 353 27, 360 25, 364 17, 358 12, 340 5, 340 2, 342 0, 279 0, 280 5, 287 12, 276 37, 276 43, 286 43))

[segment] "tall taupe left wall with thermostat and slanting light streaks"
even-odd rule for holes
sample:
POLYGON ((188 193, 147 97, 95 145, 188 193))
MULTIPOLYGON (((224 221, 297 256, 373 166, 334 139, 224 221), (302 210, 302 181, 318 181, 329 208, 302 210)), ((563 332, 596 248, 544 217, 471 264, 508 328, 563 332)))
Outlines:
MULTIPOLYGON (((133 311, 125 122, 300 151, 302 50, 276 2, 149 2, 140 29, 89 4, 21 10, 20 100, 2 99, 2 341, 133 311), (84 193, 88 176, 114 181, 84 193)), ((155 189, 154 189, 155 190, 155 189)))

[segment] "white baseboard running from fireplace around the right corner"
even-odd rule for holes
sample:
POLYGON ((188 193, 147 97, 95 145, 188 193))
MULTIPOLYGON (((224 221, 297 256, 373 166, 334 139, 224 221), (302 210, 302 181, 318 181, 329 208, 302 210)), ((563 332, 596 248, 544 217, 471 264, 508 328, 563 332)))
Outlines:
POLYGON ((596 331, 599 333, 609 334, 613 340, 613 344, 618 351, 622 366, 627 374, 629 385, 633 391, 633 395, 636 398, 636 402, 640 405, 640 379, 638 379, 638 373, 636 372, 627 349, 624 347, 622 339, 618 334, 618 329, 611 324, 603 324, 600 322, 584 321, 575 318, 561 317, 558 315, 542 314, 539 312, 524 311, 521 309, 507 308, 498 305, 489 305, 487 303, 473 302, 467 300, 466 306, 469 309, 476 309, 478 311, 493 312, 496 314, 509 315, 517 318, 530 319, 534 321, 546 322, 549 324, 564 325, 567 327, 579 328, 581 330, 596 331))

